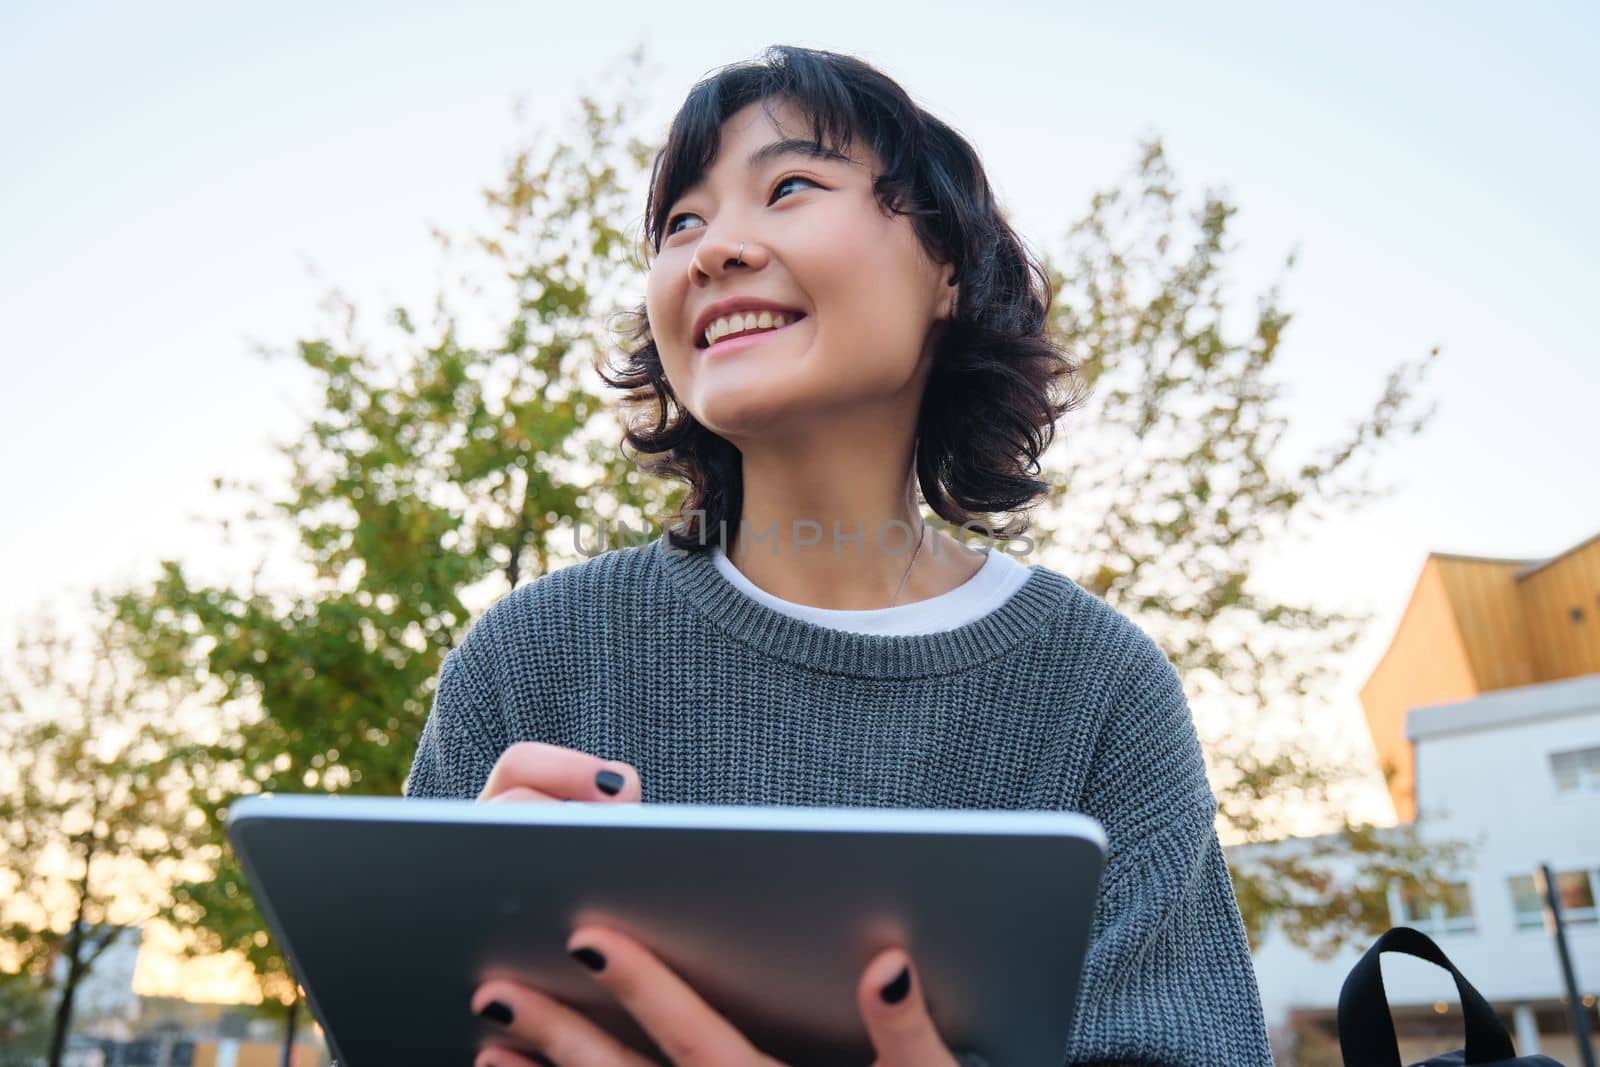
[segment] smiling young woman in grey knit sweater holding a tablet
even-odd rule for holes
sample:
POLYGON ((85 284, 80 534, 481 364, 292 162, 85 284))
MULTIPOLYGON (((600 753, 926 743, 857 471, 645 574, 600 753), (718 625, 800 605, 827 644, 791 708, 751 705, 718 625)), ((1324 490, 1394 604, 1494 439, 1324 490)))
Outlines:
MULTIPOLYGON (((867 64, 771 48, 694 86, 645 216, 643 322, 606 381, 643 410, 642 466, 688 483, 683 522, 490 608, 406 793, 1083 811, 1110 846, 1069 1061, 1270 1064, 1171 662, 1066 576, 941 528, 1035 502, 1077 403, 973 149, 867 64)), ((773 1062, 621 933, 568 950, 674 1064, 773 1062)), ((856 998, 885 1067, 982 1062, 904 952, 856 998)), ((646 1062, 526 985, 470 1008, 562 1067, 646 1062)))

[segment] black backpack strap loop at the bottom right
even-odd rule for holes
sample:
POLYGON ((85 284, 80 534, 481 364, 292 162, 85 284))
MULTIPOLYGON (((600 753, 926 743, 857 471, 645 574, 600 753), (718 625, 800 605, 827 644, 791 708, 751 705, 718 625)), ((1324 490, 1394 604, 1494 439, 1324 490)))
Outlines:
POLYGON ((1384 973, 1378 966, 1379 957, 1386 952, 1403 952, 1427 960, 1456 979, 1461 1014, 1467 1019, 1469 1064, 1493 1064, 1517 1056, 1510 1035, 1490 1008, 1490 1001, 1472 989, 1472 982, 1461 976, 1438 945, 1421 931, 1395 926, 1350 968, 1350 976, 1339 990, 1339 1053, 1344 1056, 1344 1067, 1402 1067, 1395 1024, 1389 1016, 1389 997, 1384 993, 1384 973))

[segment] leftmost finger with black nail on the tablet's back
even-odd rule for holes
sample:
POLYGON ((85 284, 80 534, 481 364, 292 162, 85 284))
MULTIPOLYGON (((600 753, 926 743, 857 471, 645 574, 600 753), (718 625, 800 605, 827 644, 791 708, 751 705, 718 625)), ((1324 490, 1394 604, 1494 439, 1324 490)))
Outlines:
POLYGON ((518 982, 483 982, 472 993, 472 1013, 493 1024, 506 1040, 502 1046, 491 1038, 475 1067, 533 1067, 533 1061, 514 1048, 531 1048, 560 1067, 651 1067, 648 1059, 579 1013, 518 982))

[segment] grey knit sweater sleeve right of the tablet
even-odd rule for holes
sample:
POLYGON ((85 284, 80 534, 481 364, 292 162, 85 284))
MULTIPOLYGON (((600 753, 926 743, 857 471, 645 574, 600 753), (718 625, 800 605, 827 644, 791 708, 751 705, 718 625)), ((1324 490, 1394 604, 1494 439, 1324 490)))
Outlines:
POLYGON ((1270 1067, 1261 993, 1178 672, 1146 633, 1115 686, 1083 808, 1109 841, 1072 1064, 1270 1067))

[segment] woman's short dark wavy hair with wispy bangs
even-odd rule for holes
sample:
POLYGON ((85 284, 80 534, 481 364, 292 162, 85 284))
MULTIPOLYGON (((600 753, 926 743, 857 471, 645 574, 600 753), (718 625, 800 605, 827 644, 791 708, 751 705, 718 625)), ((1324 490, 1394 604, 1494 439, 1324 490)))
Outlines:
MULTIPOLYGON (((771 99, 806 115, 816 144, 848 152, 854 136, 870 142, 883 163, 874 179, 880 206, 912 216, 923 250, 954 266, 958 306, 917 416, 917 482, 941 518, 1006 541, 1022 534, 1026 518, 995 528, 979 515, 1026 510, 1048 491, 1035 477, 1038 458, 1056 421, 1083 400, 1078 368, 1050 338, 1050 280, 995 203, 978 154, 890 77, 854 56, 774 45, 696 83, 651 170, 646 262, 661 251, 667 210, 717 158, 723 122, 771 99)), ((624 320, 627 362, 611 368, 614 378, 598 368, 608 386, 627 390, 624 410, 637 416, 624 445, 645 454, 634 456, 642 470, 688 483, 683 523, 667 530, 672 545, 726 550, 726 526, 744 502, 739 451, 677 403, 646 306, 624 320)))

